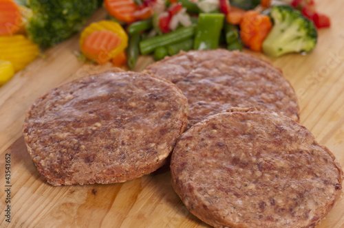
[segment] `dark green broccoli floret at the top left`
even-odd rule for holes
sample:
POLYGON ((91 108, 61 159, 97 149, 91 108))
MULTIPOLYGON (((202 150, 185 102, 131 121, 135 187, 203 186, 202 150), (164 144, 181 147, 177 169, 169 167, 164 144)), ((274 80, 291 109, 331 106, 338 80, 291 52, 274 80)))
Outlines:
POLYGON ((27 32, 41 47, 56 45, 80 31, 99 3, 99 0, 28 0, 32 14, 27 32))

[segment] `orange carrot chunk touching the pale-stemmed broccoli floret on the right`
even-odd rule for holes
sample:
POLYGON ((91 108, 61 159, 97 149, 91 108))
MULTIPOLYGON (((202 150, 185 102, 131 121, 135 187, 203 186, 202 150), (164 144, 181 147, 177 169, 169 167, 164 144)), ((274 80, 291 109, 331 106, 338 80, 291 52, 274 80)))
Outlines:
POLYGON ((261 52, 261 46, 271 27, 269 16, 249 10, 244 14, 240 23, 241 41, 253 51, 261 52))

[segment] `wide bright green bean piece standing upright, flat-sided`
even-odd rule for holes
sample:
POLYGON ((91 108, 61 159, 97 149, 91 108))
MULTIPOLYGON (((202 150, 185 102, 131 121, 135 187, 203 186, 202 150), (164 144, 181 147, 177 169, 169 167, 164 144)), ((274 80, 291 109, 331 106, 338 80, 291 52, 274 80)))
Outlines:
POLYGON ((224 26, 224 14, 200 14, 193 49, 217 49, 224 26))

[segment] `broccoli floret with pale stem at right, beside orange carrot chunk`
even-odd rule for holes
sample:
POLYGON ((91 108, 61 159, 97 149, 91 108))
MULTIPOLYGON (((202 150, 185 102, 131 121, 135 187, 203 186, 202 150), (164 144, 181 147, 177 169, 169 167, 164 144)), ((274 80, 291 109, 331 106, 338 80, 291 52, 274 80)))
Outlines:
POLYGON ((278 5, 272 7, 270 16, 274 25, 263 43, 264 53, 278 57, 314 49, 318 34, 314 24, 301 12, 288 5, 278 5))

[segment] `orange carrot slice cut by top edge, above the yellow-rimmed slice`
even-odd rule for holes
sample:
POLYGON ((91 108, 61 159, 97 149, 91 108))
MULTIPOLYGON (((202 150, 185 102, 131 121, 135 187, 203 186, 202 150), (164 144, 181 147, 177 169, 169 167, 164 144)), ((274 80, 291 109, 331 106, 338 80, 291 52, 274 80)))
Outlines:
POLYGON ((137 10, 138 6, 133 0, 105 0, 105 8, 119 21, 125 23, 132 23, 136 21, 133 13, 137 10))

